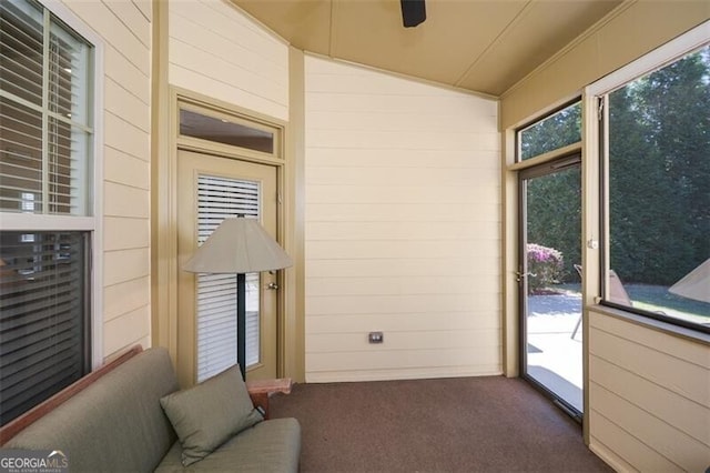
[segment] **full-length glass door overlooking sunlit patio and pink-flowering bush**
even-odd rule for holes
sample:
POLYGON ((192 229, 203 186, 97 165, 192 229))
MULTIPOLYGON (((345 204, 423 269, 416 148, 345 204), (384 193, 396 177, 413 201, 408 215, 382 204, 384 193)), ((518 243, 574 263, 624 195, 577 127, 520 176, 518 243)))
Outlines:
POLYGON ((526 169, 519 183, 521 371, 580 419, 585 336, 580 157, 526 169))

